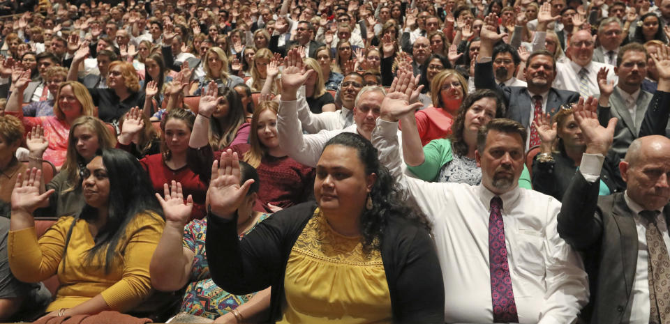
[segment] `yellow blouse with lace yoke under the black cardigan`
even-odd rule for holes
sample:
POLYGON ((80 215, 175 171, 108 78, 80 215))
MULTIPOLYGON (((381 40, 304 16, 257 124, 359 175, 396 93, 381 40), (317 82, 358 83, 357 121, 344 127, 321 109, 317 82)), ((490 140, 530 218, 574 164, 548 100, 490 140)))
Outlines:
POLYGON ((279 323, 391 323, 382 255, 336 233, 315 211, 291 250, 279 323))

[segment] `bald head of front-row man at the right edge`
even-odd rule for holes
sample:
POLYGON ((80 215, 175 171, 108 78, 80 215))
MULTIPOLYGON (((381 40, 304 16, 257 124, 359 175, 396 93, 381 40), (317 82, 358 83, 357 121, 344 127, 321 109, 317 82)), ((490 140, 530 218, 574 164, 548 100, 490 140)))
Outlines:
POLYGON ((645 210, 670 202, 670 139, 659 135, 634 140, 619 163, 628 196, 645 210))

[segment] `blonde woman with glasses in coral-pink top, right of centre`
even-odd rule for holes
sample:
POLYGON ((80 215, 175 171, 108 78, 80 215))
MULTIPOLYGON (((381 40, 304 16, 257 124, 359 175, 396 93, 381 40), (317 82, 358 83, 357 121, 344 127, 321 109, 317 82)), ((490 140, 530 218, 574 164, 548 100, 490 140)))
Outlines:
POLYGON ((452 133, 454 114, 468 93, 468 82, 456 70, 443 70, 433 77, 431 99, 433 105, 417 111, 417 128, 425 146, 433 139, 442 139, 452 133))

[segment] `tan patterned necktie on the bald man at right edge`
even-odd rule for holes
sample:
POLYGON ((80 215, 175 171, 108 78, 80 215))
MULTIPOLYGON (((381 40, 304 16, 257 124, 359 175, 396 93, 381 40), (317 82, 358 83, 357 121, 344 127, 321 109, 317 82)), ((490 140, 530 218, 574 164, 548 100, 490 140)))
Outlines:
POLYGON ((649 323, 670 323, 670 256, 661 231, 656 224, 657 211, 643 210, 646 219, 647 250, 649 252, 649 323))

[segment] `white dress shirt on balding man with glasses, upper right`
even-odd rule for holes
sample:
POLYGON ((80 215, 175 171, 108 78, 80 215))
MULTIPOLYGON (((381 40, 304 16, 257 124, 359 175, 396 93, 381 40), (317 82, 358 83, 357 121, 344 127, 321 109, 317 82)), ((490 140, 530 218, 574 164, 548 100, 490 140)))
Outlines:
MULTIPOLYGON (((614 80, 614 84, 618 82, 618 77, 614 74, 614 66, 600 63, 590 62, 583 68, 588 71, 588 95, 600 97, 600 88, 598 87, 598 71, 600 68, 608 68, 607 82, 614 80)), ((569 90, 579 93, 579 71, 582 67, 574 62, 570 63, 556 63, 556 79, 553 80, 553 87, 561 90, 569 90)))

